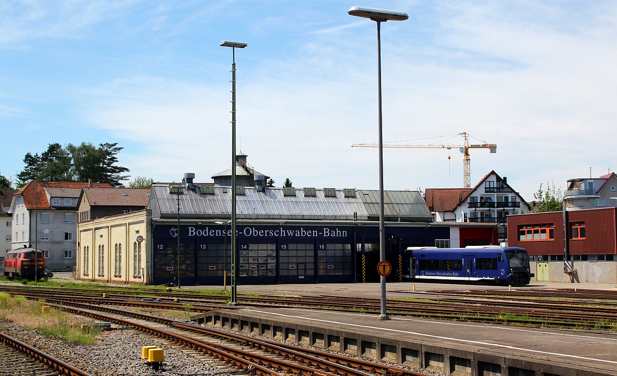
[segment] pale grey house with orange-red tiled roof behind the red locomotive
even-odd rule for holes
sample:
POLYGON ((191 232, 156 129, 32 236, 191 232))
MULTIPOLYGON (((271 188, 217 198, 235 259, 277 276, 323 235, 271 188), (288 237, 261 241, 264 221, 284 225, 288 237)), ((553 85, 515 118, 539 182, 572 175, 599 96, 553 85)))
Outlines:
POLYGON ((50 270, 72 270, 77 249, 77 204, 82 188, 108 183, 30 182, 11 199, 11 248, 33 246, 50 270))

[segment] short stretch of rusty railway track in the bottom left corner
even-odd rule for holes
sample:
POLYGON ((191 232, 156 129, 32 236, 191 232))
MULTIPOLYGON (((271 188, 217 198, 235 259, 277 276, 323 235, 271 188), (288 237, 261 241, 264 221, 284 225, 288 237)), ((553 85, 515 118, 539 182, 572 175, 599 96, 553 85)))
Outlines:
POLYGON ((0 332, 0 372, 13 376, 91 376, 43 351, 0 332))

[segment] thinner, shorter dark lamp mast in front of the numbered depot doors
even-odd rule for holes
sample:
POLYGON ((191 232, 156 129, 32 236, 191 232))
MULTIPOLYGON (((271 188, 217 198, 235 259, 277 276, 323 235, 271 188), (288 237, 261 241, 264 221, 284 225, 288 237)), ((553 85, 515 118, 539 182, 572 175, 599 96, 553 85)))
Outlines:
POLYGON ((231 47, 231 302, 238 303, 238 246, 236 244, 236 48, 246 43, 221 41, 222 47, 231 47))

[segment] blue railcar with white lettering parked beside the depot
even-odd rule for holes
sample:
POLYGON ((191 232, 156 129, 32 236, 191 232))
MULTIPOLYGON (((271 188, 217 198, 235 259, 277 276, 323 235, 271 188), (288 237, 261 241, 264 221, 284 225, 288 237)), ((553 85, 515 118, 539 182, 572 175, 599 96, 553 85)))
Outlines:
POLYGON ((529 257, 523 248, 470 246, 466 248, 409 247, 405 264, 413 280, 457 280, 528 285, 529 257))

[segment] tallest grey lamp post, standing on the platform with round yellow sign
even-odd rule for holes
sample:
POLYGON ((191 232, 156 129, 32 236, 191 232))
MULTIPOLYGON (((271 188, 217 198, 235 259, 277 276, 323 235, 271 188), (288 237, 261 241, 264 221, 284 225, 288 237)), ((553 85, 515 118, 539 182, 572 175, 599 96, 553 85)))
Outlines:
MULTIPOLYGON (((387 10, 368 7, 350 7, 350 15, 364 17, 377 22, 377 119, 379 132, 379 261, 386 261, 386 229, 384 225, 384 161, 383 138, 381 132, 381 23, 390 21, 404 21, 409 18, 407 13, 399 10, 387 10)), ((386 277, 381 275, 381 311, 379 320, 388 320, 386 312, 386 277)))

